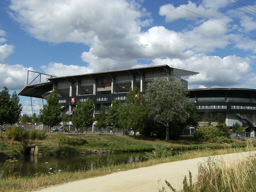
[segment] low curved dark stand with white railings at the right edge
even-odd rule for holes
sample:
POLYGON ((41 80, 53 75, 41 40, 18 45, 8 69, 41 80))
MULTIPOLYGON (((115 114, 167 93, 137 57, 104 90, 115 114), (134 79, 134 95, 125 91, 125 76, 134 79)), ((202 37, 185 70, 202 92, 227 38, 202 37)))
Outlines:
POLYGON ((205 111, 211 111, 213 119, 221 113, 228 126, 237 122, 244 127, 247 137, 255 137, 255 89, 206 88, 188 91, 189 99, 195 102, 201 120, 204 119, 205 111))

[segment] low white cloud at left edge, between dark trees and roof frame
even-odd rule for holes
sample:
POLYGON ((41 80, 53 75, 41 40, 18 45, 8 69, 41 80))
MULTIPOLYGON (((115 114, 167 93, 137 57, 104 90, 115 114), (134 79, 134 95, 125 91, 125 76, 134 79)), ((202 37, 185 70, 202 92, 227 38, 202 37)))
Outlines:
POLYGON ((20 90, 27 83, 28 70, 33 68, 0 63, 0 87, 6 86, 9 90, 20 90))

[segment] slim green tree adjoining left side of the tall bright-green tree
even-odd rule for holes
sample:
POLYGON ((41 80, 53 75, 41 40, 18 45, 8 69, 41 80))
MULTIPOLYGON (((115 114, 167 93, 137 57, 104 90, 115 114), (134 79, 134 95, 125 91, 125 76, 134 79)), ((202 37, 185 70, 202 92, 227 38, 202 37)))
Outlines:
POLYGON ((119 104, 116 102, 116 100, 113 100, 112 106, 110 106, 108 109, 106 123, 108 125, 108 128, 114 131, 114 135, 115 135, 115 129, 120 128, 118 114, 119 114, 119 104))

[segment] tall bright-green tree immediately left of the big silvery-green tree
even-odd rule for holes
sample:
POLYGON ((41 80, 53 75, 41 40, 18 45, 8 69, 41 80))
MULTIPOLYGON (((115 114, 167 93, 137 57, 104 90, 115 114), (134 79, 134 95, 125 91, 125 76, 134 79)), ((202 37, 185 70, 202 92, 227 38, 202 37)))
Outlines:
POLYGON ((127 130, 140 132, 146 126, 147 110, 143 95, 138 87, 131 88, 119 111, 119 121, 127 130))

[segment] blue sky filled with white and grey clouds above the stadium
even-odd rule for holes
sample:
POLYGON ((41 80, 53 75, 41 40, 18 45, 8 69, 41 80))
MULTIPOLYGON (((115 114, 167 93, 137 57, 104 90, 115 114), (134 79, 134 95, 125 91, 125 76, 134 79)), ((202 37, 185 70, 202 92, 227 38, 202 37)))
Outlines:
MULTIPOLYGON (((256 88, 256 3, 230 1, 169 2, 254 38, 163 0, 2 0, 0 86, 19 92, 28 70, 64 76, 168 64, 200 73, 187 78, 189 88, 256 88)), ((31 114, 30 98, 20 100, 31 114)), ((42 100, 32 101, 38 113, 42 100)))

